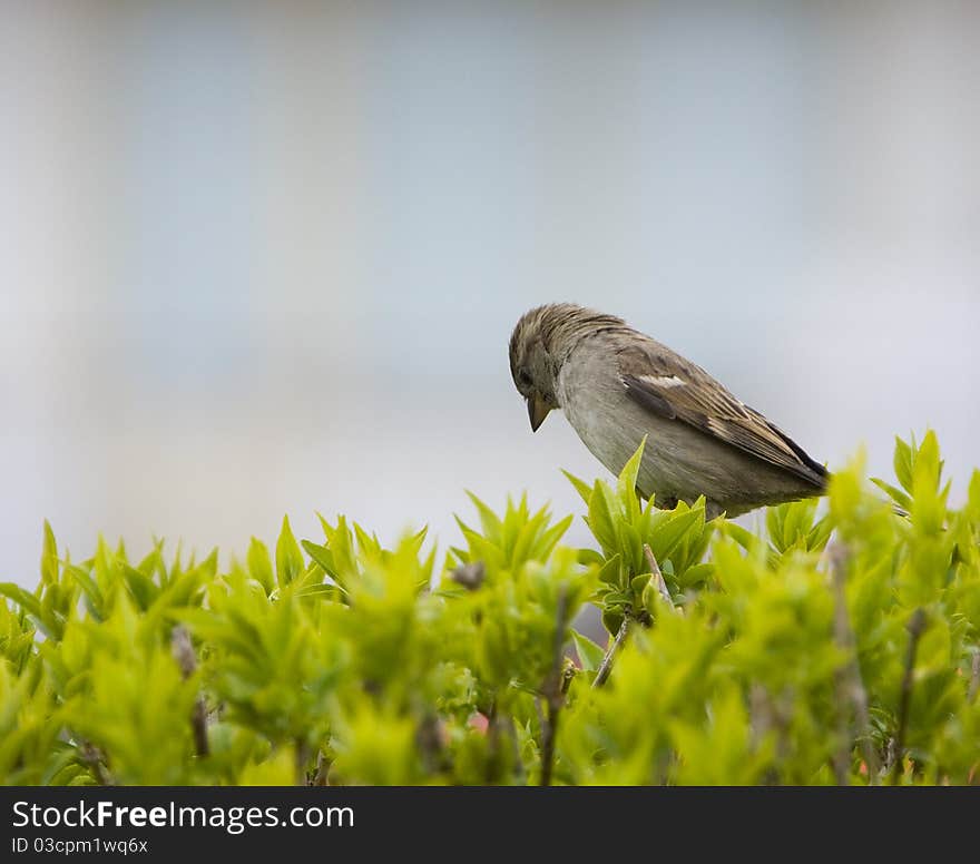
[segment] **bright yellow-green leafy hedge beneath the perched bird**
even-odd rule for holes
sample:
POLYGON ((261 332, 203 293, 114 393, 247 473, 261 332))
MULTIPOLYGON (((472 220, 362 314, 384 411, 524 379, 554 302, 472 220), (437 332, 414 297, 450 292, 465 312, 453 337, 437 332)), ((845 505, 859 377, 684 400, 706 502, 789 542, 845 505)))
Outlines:
MULTIPOLYGON (((8 784, 953 783, 980 763, 980 472, 898 442, 909 517, 834 477, 756 536, 570 478, 595 548, 527 499, 437 566, 343 517, 222 571, 45 527, 0 586, 8 784), (592 606, 609 646, 574 629, 592 606), (615 639, 611 638, 615 636, 615 639), (607 650, 608 648, 608 650, 607 650)), ((428 551, 427 551, 428 550, 428 551)), ((605 640, 604 640, 605 641, 605 640)))

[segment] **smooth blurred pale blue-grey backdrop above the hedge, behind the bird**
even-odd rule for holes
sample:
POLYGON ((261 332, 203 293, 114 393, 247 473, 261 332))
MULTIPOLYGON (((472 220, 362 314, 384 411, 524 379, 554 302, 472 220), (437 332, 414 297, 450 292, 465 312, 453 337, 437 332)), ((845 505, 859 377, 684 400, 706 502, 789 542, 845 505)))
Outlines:
POLYGON ((980 3, 0 9, 0 579, 45 518, 79 558, 577 510, 506 356, 557 300, 831 467, 980 462, 980 3))

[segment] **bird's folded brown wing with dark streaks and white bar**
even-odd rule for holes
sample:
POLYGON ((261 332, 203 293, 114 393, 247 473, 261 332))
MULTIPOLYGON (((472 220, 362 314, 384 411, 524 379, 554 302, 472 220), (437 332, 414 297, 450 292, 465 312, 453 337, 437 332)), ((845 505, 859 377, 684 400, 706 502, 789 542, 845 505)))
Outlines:
POLYGON ((757 411, 735 399, 700 366, 659 343, 617 352, 626 395, 666 420, 678 420, 822 488, 826 469, 757 411))

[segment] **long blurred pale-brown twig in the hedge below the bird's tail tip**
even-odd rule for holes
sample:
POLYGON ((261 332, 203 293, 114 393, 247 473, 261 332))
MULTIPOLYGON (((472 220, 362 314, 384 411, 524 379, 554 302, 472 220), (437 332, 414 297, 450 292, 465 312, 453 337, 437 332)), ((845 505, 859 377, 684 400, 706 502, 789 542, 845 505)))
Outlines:
MULTIPOLYGON (((841 701, 850 701, 854 706, 861 755, 868 769, 868 778, 872 786, 876 786, 881 765, 871 738, 871 715, 868 710, 868 691, 861 678, 861 665, 857 662, 857 640, 854 638, 854 630, 847 616, 847 548, 843 543, 835 542, 827 550, 827 556, 834 586, 834 636, 849 657, 846 666, 837 676, 837 685, 843 697, 841 701)), ((843 715, 840 732, 841 749, 834 757, 834 773, 839 785, 847 785, 851 777, 851 733, 843 715)))

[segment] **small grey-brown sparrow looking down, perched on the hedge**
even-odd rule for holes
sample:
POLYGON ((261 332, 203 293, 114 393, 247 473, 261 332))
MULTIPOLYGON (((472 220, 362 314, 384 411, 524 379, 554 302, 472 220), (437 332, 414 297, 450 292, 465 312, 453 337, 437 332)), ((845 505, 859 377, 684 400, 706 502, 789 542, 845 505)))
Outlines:
POLYGON ((826 468, 705 370, 623 318, 574 303, 525 313, 510 372, 531 431, 560 410, 614 474, 644 445, 636 489, 708 519, 826 492, 826 468))

